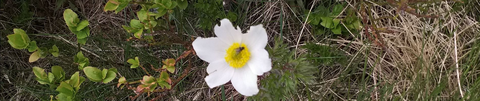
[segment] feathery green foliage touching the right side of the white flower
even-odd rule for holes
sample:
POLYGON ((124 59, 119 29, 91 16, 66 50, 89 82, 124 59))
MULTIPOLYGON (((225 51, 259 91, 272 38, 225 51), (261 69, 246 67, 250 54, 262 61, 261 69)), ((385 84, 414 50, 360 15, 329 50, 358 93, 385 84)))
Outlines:
POLYGON ((274 47, 268 49, 272 58, 272 70, 260 80, 260 92, 254 96, 259 101, 288 101, 288 96, 297 93, 300 81, 313 82, 315 67, 306 61, 307 54, 295 56, 295 49, 275 39, 274 47))

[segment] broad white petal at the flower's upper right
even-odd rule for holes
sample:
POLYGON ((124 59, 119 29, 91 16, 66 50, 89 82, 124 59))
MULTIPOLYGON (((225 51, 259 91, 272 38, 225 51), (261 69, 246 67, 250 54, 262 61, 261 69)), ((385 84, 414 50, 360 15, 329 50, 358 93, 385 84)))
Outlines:
POLYGON ((264 49, 268 42, 268 35, 262 24, 250 27, 247 34, 242 34, 242 43, 250 50, 264 49))

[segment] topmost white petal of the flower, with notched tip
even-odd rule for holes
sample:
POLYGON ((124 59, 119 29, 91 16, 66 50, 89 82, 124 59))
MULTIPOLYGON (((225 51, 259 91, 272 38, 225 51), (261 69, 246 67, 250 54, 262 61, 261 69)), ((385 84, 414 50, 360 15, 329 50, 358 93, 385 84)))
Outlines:
POLYGON ((240 27, 237 26, 237 29, 233 27, 232 22, 228 19, 223 19, 220 21, 220 25, 216 25, 214 32, 220 40, 227 43, 228 45, 233 43, 240 43, 242 33, 240 27))

